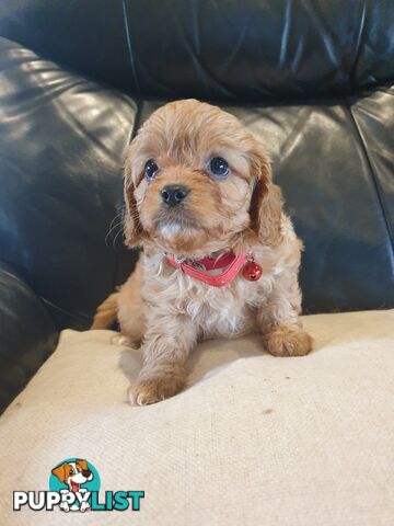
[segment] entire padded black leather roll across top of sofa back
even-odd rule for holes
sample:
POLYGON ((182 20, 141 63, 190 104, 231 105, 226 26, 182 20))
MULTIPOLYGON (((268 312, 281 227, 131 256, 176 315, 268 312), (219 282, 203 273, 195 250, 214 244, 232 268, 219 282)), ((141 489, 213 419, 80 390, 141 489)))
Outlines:
POLYGON ((394 76, 391 0, 2 0, 0 34, 143 96, 303 99, 394 76))

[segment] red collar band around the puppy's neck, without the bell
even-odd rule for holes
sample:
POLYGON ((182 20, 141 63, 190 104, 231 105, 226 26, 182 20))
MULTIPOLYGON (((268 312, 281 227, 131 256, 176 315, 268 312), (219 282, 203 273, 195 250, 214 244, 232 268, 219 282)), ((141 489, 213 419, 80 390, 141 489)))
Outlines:
POLYGON ((228 252, 217 259, 202 258, 201 260, 190 263, 187 263, 187 261, 190 260, 186 260, 185 258, 178 259, 170 254, 166 254, 166 259, 174 268, 181 268, 184 274, 187 274, 194 279, 206 283, 211 287, 225 287, 225 285, 229 285, 235 278, 243 267, 246 261, 246 253, 235 255, 233 252, 228 252), (206 272, 223 267, 227 268, 220 274, 211 275, 206 272))

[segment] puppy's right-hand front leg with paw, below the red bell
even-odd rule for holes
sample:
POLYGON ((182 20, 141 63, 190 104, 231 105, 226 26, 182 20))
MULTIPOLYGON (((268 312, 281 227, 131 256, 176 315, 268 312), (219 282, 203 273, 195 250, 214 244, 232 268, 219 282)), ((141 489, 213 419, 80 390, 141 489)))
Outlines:
POLYGON ((274 356, 304 356, 312 350, 312 338, 299 320, 301 293, 297 274, 277 278, 268 301, 257 311, 263 344, 274 356))

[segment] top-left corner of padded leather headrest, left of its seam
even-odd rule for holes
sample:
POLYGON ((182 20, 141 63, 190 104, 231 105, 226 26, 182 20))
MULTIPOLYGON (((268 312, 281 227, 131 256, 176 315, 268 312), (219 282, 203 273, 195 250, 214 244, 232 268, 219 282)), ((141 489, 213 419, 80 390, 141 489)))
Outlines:
POLYGON ((121 0, 1 0, 0 35, 96 80, 134 89, 121 0))

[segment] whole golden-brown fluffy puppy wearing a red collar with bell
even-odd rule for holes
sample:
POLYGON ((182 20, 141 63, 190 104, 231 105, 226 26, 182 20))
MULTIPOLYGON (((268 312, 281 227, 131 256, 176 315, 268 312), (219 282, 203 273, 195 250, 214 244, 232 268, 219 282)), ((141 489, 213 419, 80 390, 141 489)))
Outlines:
POLYGON ((154 112, 125 165, 125 238, 142 245, 135 272, 93 328, 118 318, 121 343, 142 345, 132 404, 185 386, 198 341, 251 331, 275 356, 302 356, 302 243, 282 211, 260 142, 232 115, 195 100, 154 112))

